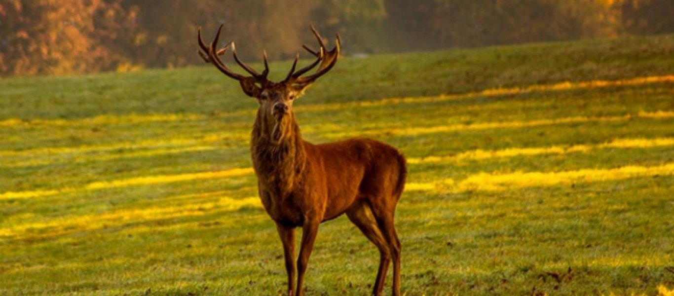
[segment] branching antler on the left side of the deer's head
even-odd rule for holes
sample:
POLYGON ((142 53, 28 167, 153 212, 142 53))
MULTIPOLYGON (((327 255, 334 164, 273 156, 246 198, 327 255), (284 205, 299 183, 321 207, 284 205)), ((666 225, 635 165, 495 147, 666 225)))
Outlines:
POLYGON ((206 42, 204 42, 204 39, 202 38, 202 28, 199 28, 199 31, 197 32, 198 42, 199 42, 199 47, 201 47, 202 51, 198 51, 200 57, 204 59, 206 63, 212 63, 215 65, 216 68, 218 68, 224 75, 234 78, 236 80, 249 80, 250 78, 254 78, 257 80, 257 82, 263 83, 267 82, 267 75, 269 74, 269 64, 267 62, 267 53, 263 53, 262 56, 264 57, 264 71, 262 71, 262 74, 257 73, 253 68, 251 68, 249 65, 246 65, 239 59, 237 56, 237 49, 236 45, 234 42, 229 42, 227 45, 222 47, 222 49, 216 50, 216 46, 218 45, 218 40, 220 40, 220 32, 222 31, 222 26, 223 24, 220 25, 220 28, 218 28, 218 32, 216 33, 215 37, 213 38, 213 41, 211 42, 209 47, 206 47, 206 42), (220 60, 220 55, 224 55, 224 53, 227 51, 229 46, 232 46, 232 53, 234 55, 235 61, 243 68, 245 69, 248 73, 251 74, 251 77, 246 77, 243 76, 239 73, 235 73, 231 69, 229 69, 222 60, 220 60))

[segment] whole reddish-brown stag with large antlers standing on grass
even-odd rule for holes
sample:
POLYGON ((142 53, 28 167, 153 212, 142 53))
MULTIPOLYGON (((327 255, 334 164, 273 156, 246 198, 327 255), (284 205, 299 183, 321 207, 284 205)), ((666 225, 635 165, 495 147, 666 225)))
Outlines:
POLYGON ((269 65, 263 51, 264 71, 257 72, 237 56, 234 42, 217 49, 222 26, 210 45, 197 32, 199 55, 228 78, 239 81, 244 94, 258 103, 250 153, 257 189, 264 210, 276 224, 283 245, 288 296, 304 295, 304 278, 319 224, 346 214, 379 249, 379 270, 373 295, 381 295, 388 268, 393 263, 392 295, 400 295, 401 245, 394 227, 396 204, 406 180, 406 160, 393 146, 369 138, 311 144, 303 140, 293 113, 293 102, 340 57, 340 36, 326 49, 316 28, 311 31, 319 49, 306 49, 315 60, 297 69, 299 53, 286 78, 268 80, 269 65), (229 69, 220 59, 228 48, 248 75, 229 69), (316 68, 316 66, 318 66, 316 68), (315 69, 311 74, 307 72, 315 69), (295 229, 301 227, 301 247, 295 261, 295 229), (297 285, 295 277, 297 276, 297 285))

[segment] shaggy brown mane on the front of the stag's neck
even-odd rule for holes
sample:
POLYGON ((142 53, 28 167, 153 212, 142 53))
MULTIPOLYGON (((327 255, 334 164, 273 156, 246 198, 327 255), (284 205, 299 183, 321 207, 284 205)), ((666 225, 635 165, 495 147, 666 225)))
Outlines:
POLYGON ((270 124, 258 113, 251 133, 257 178, 281 198, 301 183, 307 160, 299 126, 292 114, 288 116, 281 123, 270 124))

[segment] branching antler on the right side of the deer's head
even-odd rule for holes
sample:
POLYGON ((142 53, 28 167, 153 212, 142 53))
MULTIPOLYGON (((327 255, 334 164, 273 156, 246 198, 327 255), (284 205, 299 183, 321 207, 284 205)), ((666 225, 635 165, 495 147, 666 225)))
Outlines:
POLYGON ((316 57, 316 60, 310 65, 307 65, 307 67, 303 67, 302 69, 299 69, 297 70, 297 72, 295 72, 295 66, 297 65, 297 60, 299 59, 299 55, 297 55, 295 57, 293 67, 291 67, 290 72, 288 72, 288 76, 286 76, 286 79, 283 80, 284 83, 311 84, 311 82, 314 82, 319 77, 323 76, 325 73, 328 73, 328 71, 330 71, 330 69, 332 69, 332 67, 337 62, 341 46, 339 34, 336 34, 335 47, 332 49, 332 51, 328 51, 328 49, 326 49, 325 42, 323 42, 323 38, 321 38, 321 35, 318 34, 318 31, 313 26, 313 24, 311 25, 311 32, 313 32, 313 36, 316 36, 316 40, 318 40, 320 48, 318 49, 318 51, 313 51, 306 45, 302 45, 302 47, 307 51, 309 51, 311 55, 314 55, 316 57), (304 73, 307 73, 309 70, 313 69, 313 67, 315 67, 319 62, 321 62, 321 65, 318 67, 315 73, 309 76, 301 77, 302 75, 304 75, 304 73))

